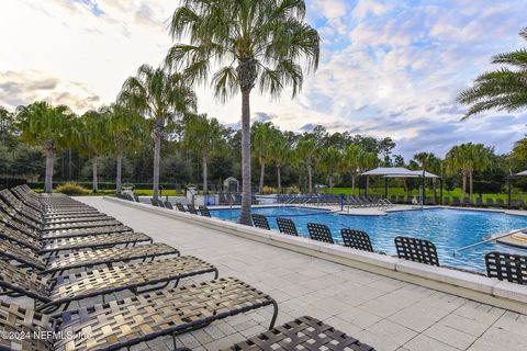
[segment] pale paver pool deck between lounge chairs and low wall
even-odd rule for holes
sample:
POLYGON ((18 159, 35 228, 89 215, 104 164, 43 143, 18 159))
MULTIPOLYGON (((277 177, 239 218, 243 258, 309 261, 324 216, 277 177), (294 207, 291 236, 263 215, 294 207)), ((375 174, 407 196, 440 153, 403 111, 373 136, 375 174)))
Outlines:
MULTIPOLYGON (((378 350, 526 350, 527 316, 328 262, 101 197, 80 201, 182 252, 215 264, 279 303, 278 324, 311 315, 378 350)), ((269 308, 229 317, 179 338, 217 350, 266 329, 269 308)), ((133 350, 167 350, 158 338, 133 350)))

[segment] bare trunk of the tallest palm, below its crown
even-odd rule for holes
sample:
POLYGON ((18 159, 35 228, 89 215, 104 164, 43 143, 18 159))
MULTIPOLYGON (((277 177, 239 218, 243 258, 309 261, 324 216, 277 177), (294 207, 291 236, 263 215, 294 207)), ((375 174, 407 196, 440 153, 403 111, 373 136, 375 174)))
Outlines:
POLYGON ((250 89, 242 89, 242 210, 239 223, 250 226, 250 89))

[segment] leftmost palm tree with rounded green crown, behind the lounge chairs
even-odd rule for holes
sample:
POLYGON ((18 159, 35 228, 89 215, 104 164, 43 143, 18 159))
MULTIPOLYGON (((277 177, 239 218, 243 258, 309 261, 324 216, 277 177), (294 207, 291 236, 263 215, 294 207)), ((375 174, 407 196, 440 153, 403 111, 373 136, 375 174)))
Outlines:
POLYGON ((21 138, 30 145, 42 146, 46 156, 46 179, 44 191, 53 192, 53 161, 55 152, 66 141, 72 112, 68 106, 53 106, 46 101, 16 107, 21 138))

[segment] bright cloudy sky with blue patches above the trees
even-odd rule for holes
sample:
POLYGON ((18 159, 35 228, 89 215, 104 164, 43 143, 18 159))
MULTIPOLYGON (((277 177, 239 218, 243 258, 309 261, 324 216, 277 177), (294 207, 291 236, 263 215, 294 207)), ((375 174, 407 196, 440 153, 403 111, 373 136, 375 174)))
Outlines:
MULTIPOLYGON (((177 0, 0 0, 0 105, 35 100, 82 113, 115 100, 143 64, 159 66, 173 42, 177 0)), ((255 91, 254 121, 281 129, 392 137, 406 160, 442 157, 473 141, 508 152, 527 131, 527 111, 492 111, 461 122, 456 95, 491 57, 526 47, 527 0, 306 0, 322 37, 321 65, 302 93, 279 101, 255 91)), ((199 112, 239 126, 240 97, 216 102, 197 88, 199 112)))

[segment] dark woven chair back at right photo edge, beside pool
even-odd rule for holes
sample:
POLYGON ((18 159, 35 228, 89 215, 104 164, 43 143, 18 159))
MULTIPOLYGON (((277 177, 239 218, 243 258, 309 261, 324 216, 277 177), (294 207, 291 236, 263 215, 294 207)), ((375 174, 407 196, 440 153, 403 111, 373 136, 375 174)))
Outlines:
POLYGON ((527 256, 492 251, 485 254, 486 275, 527 285, 527 256))

